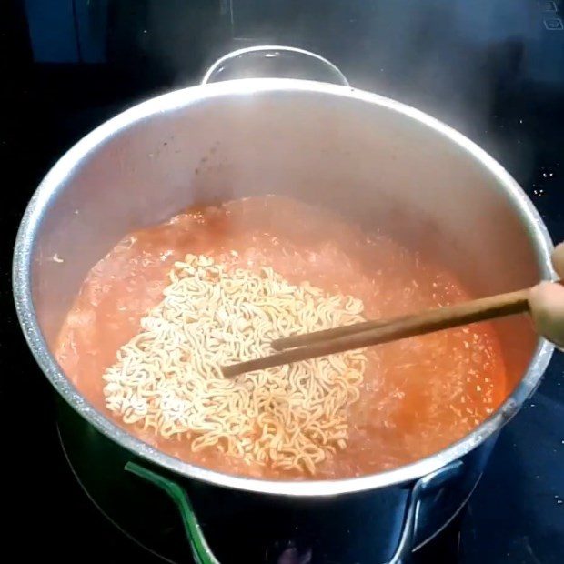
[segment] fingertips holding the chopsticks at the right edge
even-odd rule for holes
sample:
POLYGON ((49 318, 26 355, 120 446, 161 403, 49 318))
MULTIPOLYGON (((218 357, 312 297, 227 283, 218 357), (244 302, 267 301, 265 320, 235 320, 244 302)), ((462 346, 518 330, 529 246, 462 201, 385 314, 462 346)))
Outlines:
MULTIPOLYGON (((556 248, 553 261, 555 270, 562 277, 564 275, 562 244, 556 248)), ((559 347, 564 347, 564 287, 551 282, 541 282, 531 289, 529 305, 533 322, 539 333, 559 347)))

